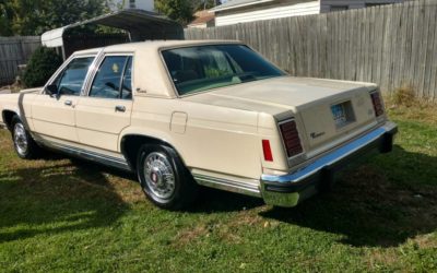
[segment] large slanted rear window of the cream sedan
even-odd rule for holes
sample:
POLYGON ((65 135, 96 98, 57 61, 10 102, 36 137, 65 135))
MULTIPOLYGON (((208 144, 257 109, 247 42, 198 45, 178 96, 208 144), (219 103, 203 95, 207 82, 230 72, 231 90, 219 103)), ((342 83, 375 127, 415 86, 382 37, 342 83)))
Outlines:
POLYGON ((162 54, 181 96, 285 74, 244 45, 194 46, 162 54))

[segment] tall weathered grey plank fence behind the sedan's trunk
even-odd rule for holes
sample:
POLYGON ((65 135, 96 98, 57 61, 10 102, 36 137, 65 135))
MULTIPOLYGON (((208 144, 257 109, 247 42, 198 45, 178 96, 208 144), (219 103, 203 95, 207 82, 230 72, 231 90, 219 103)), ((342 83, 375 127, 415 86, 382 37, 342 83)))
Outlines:
POLYGON ((185 29, 186 39, 238 39, 293 75, 410 85, 437 99, 437 1, 185 29))

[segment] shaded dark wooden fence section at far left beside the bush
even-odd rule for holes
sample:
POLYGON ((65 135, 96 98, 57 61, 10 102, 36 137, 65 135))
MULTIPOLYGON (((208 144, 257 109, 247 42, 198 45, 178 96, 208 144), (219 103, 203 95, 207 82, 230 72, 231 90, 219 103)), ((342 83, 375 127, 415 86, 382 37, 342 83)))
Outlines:
POLYGON ((14 82, 19 64, 27 63, 39 46, 39 36, 0 37, 0 85, 14 82))

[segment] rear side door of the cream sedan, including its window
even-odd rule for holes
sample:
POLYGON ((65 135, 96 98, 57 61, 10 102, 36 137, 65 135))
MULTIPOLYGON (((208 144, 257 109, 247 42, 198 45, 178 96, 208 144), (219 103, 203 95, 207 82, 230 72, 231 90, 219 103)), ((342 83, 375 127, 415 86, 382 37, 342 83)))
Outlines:
POLYGON ((75 107, 80 143, 111 152, 120 132, 130 126, 132 110, 132 56, 106 55, 75 107))

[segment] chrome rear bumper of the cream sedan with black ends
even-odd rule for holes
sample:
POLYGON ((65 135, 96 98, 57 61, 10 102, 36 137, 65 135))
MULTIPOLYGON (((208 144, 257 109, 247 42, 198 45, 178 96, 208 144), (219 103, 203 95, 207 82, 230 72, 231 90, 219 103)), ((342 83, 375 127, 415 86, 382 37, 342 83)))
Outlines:
POLYGON ((397 124, 388 121, 295 173, 282 176, 262 175, 261 194, 264 202, 288 207, 297 205, 315 194, 320 187, 331 183, 335 171, 346 166, 352 159, 373 151, 390 152, 393 135, 397 132, 397 124))

